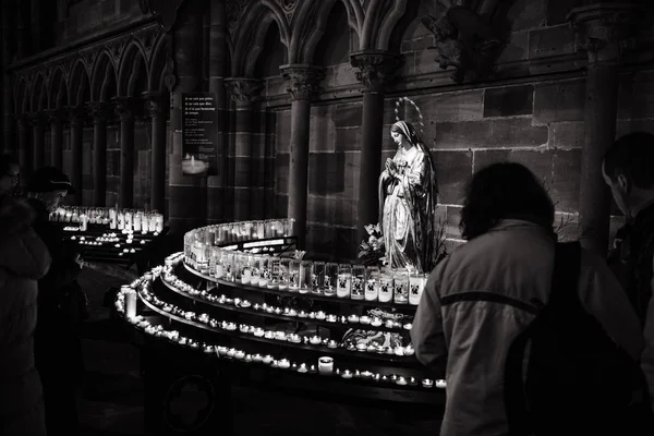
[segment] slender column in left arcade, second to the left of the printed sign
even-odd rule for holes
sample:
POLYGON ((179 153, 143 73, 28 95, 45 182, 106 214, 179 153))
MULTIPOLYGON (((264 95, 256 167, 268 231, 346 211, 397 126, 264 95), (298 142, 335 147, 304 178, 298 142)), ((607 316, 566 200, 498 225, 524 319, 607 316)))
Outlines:
POLYGON ((114 97, 113 109, 120 119, 120 187, 118 206, 131 208, 134 203, 134 101, 114 97))

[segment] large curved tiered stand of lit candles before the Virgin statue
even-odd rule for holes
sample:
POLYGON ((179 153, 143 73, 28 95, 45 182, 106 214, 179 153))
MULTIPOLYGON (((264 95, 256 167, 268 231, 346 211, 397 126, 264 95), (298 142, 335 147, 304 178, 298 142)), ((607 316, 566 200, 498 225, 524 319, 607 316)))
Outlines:
POLYGON ((407 295, 424 281, 294 259, 292 227, 270 220, 193 230, 183 253, 121 289, 117 311, 144 352, 148 434, 227 432, 234 384, 431 415, 443 409, 444 374, 424 368, 409 342, 415 306, 407 295), (385 277, 399 299, 379 301, 385 277), (187 391, 204 399, 193 420, 184 416, 189 403, 180 405, 187 391))

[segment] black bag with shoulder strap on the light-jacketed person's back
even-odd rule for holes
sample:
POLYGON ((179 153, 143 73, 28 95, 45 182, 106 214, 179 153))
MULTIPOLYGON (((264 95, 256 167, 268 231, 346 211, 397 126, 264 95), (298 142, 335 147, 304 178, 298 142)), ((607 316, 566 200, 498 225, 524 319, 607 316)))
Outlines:
POLYGON ((581 304, 580 264, 578 242, 556 245, 549 301, 509 347, 509 435, 654 435, 638 363, 581 304))

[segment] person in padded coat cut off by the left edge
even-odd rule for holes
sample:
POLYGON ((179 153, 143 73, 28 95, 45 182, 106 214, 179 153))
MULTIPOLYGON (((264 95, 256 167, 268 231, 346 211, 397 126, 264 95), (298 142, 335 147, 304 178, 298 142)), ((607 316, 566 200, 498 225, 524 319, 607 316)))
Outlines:
POLYGON ((32 229, 34 211, 12 197, 19 166, 0 156, 0 435, 45 436, 44 395, 34 363, 37 280, 50 255, 32 229))

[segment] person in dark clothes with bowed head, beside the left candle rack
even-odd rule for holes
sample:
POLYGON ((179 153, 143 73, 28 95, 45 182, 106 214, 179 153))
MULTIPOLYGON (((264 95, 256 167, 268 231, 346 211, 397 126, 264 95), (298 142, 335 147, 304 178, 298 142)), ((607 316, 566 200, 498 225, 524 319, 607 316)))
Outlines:
POLYGON ((52 265, 38 281, 36 367, 41 376, 48 434, 78 434, 77 382, 83 374, 80 326, 85 296, 77 283, 82 261, 63 231, 48 220, 50 211, 70 193, 69 178, 53 167, 32 175, 28 202, 36 210, 34 230, 46 243, 52 265))

